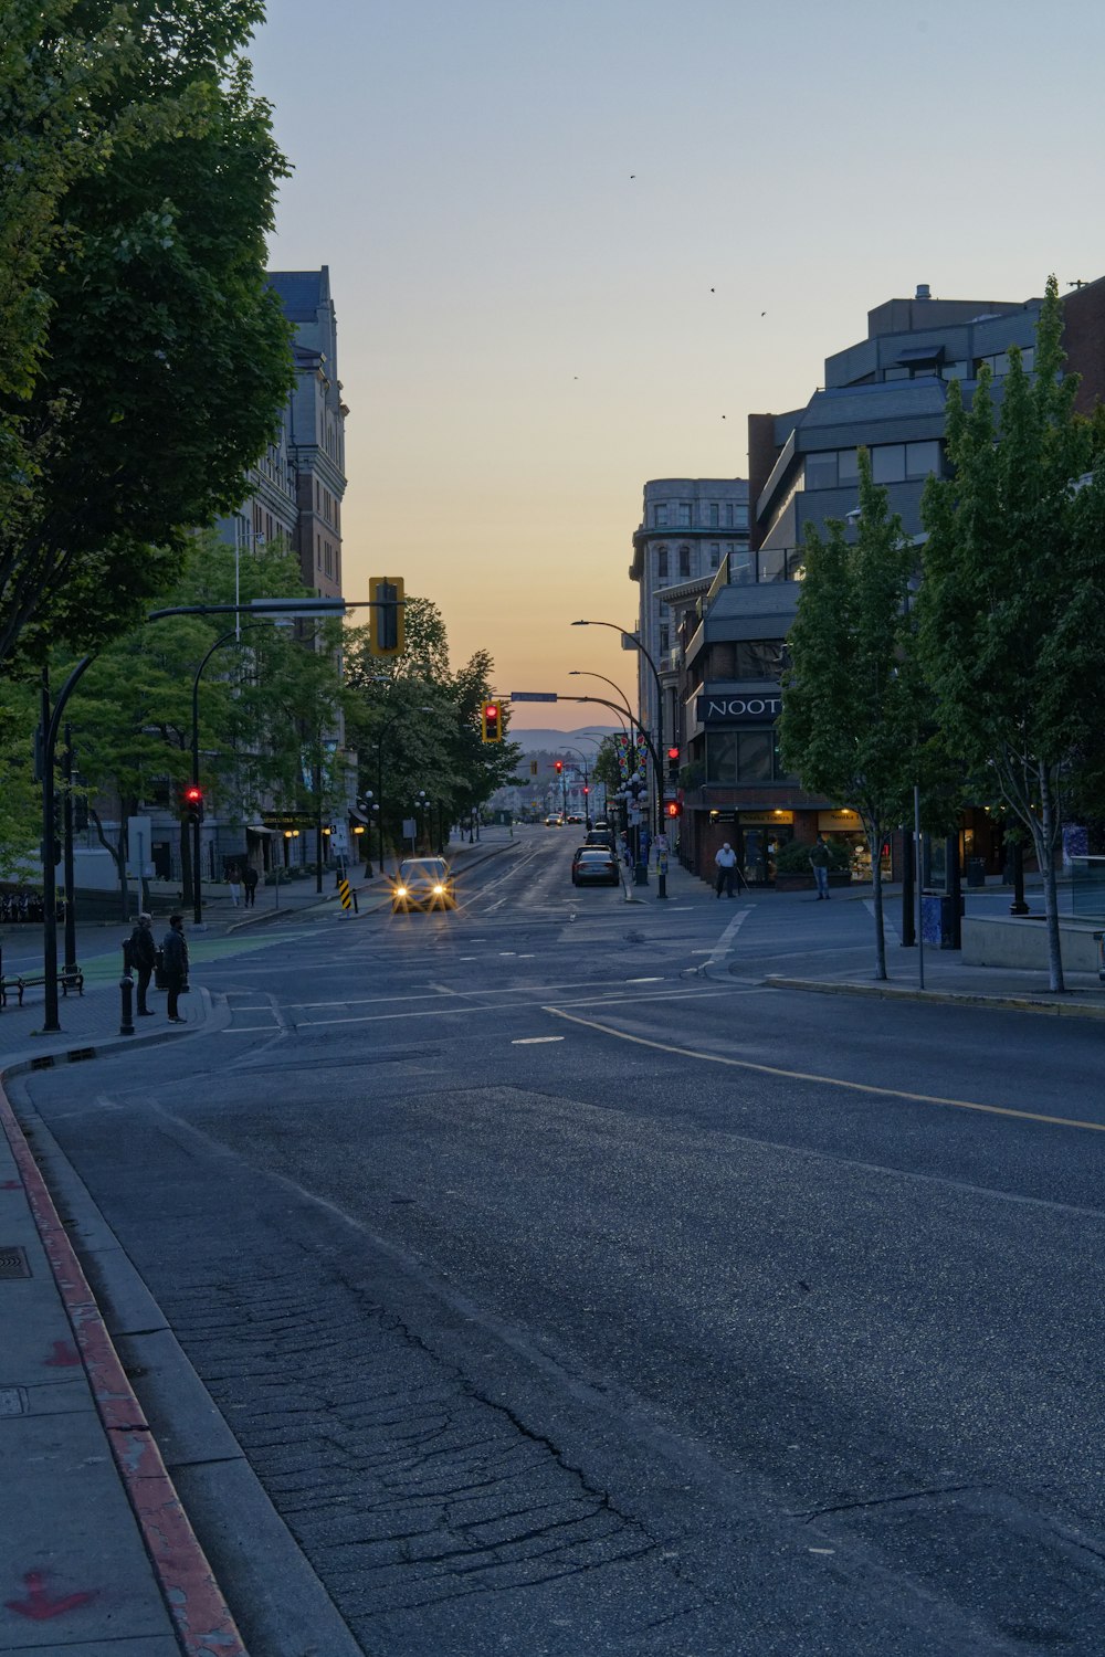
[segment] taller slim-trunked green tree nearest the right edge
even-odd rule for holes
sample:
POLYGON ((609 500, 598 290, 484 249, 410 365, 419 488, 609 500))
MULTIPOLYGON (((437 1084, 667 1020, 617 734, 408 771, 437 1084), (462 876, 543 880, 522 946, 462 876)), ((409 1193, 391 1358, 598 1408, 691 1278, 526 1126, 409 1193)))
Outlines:
POLYGON ((1032 837, 1044 877, 1050 988, 1064 988, 1055 901, 1062 795, 1100 754, 1105 673, 1105 428, 1074 413, 1052 277, 1035 371, 1009 351, 996 414, 948 394, 949 479, 929 479, 921 653, 949 751, 989 777, 1032 837))

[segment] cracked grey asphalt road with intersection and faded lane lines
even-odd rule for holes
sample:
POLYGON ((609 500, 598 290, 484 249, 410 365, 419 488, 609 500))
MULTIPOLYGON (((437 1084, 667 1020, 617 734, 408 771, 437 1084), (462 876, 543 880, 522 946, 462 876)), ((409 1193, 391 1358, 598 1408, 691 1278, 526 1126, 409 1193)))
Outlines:
POLYGON ((1100 1026, 764 989, 863 905, 572 843, 28 1084, 361 1650, 1100 1657, 1100 1026))

